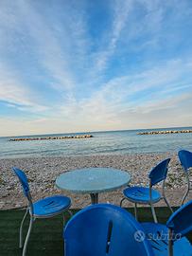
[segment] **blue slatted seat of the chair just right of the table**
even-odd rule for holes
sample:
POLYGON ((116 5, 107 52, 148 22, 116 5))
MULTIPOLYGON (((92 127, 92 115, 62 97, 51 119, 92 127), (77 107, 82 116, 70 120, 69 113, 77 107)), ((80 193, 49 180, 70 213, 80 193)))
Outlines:
MULTIPOLYGON (((158 202, 161 199, 160 192, 151 190, 152 203, 158 202)), ((131 202, 148 204, 150 201, 149 188, 145 187, 131 187, 123 191, 125 197, 131 202)))

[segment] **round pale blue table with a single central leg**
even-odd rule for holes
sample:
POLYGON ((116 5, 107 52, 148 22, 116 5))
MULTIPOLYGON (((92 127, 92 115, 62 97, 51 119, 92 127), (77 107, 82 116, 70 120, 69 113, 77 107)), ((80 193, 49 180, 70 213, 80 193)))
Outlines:
POLYGON ((113 168, 84 168, 61 174, 57 188, 77 193, 89 193, 92 204, 98 203, 99 192, 110 192, 129 184, 131 175, 113 168))

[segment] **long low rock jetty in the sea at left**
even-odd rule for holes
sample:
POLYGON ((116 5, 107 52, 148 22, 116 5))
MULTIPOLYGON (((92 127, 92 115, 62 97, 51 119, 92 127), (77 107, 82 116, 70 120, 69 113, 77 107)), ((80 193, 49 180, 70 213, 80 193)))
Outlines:
POLYGON ((65 139, 65 138, 90 138, 92 135, 64 136, 64 137, 16 137, 10 138, 9 141, 26 141, 26 140, 45 140, 45 139, 65 139))

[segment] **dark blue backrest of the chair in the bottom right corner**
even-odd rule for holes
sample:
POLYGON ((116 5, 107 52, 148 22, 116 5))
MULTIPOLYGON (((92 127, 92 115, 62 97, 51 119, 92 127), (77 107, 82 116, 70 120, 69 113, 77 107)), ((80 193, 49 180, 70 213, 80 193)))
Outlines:
POLYGON ((166 227, 181 237, 192 231, 192 200, 184 204, 169 217, 166 227))

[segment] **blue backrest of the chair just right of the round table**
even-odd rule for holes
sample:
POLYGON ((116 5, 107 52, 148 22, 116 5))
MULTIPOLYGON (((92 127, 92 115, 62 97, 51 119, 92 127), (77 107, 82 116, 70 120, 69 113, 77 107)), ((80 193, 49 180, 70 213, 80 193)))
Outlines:
POLYGON ((150 174, 148 175, 148 177, 150 178, 151 186, 166 179, 169 161, 170 161, 170 158, 167 158, 152 168, 152 170, 150 171, 150 174))

